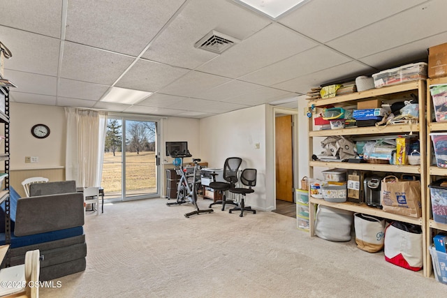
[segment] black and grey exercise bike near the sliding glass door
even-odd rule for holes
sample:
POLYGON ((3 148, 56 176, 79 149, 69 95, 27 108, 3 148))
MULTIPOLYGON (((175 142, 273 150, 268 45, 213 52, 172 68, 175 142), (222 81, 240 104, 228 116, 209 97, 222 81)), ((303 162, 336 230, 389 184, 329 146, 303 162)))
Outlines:
POLYGON ((213 212, 214 211, 213 209, 200 210, 197 205, 197 184, 198 184, 197 177, 200 178, 200 174, 198 174, 198 168, 200 167, 198 163, 200 162, 200 158, 193 158, 194 163, 193 174, 188 174, 186 167, 183 166, 183 158, 192 156, 189 153, 189 151, 171 152, 170 156, 172 156, 173 158, 180 158, 182 160, 182 163, 180 168, 176 170, 177 174, 179 174, 180 176, 180 181, 177 186, 177 200, 175 202, 168 202, 166 203, 166 205, 167 206, 179 205, 191 202, 193 206, 196 208, 196 210, 184 214, 186 218, 189 218, 189 216, 194 214, 213 212))

